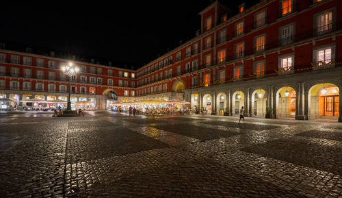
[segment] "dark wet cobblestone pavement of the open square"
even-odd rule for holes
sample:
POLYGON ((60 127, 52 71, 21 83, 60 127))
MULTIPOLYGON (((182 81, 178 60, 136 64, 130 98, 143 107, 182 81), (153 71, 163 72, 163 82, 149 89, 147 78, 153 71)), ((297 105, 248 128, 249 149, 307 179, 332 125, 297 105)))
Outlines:
POLYGON ((0 197, 342 197, 341 123, 0 114, 0 197))

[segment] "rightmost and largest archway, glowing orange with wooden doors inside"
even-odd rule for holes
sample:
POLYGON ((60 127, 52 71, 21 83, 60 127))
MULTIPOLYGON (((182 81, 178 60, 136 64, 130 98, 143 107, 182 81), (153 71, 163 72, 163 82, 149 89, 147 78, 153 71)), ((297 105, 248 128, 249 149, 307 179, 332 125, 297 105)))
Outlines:
POLYGON ((338 119, 339 87, 316 84, 308 90, 308 114, 311 119, 338 119))

